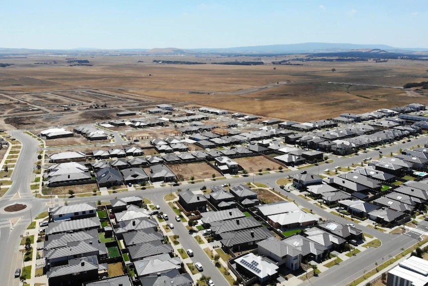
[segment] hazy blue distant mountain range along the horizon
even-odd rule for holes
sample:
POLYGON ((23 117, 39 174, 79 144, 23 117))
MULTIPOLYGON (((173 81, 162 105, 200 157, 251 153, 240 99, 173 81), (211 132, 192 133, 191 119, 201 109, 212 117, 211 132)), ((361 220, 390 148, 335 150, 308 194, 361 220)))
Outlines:
POLYGON ((201 49, 178 49, 178 48, 154 48, 154 49, 96 49, 96 48, 74 48, 74 49, 10 49, 0 48, 0 56, 6 55, 60 55, 60 54, 307 54, 307 53, 337 53, 355 50, 382 50, 390 53, 402 54, 426 54, 428 48, 395 48, 388 45, 364 45, 348 43, 301 43, 285 45, 249 46, 232 48, 201 48, 201 49))

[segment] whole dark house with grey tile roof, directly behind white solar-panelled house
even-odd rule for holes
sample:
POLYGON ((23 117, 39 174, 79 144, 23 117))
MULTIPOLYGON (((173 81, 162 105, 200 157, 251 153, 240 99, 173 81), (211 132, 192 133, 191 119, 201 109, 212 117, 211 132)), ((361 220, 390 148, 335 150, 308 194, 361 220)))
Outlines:
POLYGON ((232 252, 254 249, 259 241, 275 237, 266 227, 223 232, 218 236, 222 247, 228 248, 232 252))

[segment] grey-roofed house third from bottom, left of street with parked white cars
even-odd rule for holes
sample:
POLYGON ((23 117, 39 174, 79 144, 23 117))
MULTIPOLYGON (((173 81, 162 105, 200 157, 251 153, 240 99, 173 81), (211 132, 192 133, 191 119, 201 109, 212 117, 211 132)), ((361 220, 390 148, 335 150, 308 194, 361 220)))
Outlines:
POLYGON ((128 247, 128 251, 131 262, 134 262, 159 254, 170 254, 174 252, 174 249, 172 248, 171 244, 163 244, 162 241, 157 240, 131 245, 128 247))

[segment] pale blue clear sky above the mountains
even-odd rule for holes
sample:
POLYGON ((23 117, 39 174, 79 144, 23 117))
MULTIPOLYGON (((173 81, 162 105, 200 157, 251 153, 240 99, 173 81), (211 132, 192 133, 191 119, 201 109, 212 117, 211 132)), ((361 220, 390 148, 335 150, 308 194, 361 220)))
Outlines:
POLYGON ((427 0, 3 0, 0 48, 428 48, 427 0))

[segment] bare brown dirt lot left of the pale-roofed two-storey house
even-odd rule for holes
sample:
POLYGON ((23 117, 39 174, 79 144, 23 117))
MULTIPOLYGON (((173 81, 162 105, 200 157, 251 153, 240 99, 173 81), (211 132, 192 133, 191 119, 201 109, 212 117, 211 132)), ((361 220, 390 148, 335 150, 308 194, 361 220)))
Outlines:
POLYGON ((168 166, 180 179, 180 181, 188 181, 190 177, 194 176, 195 180, 212 178, 213 174, 216 177, 222 175, 211 168, 207 163, 191 163, 191 164, 178 164, 168 166))

